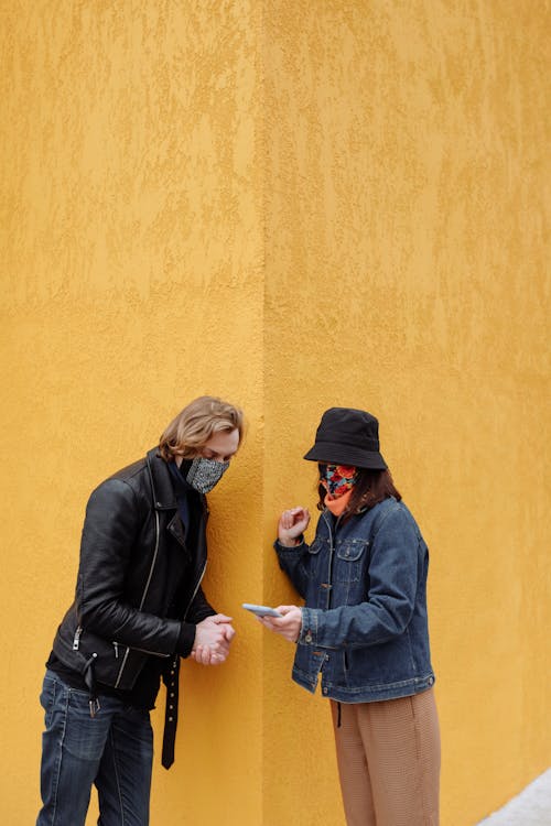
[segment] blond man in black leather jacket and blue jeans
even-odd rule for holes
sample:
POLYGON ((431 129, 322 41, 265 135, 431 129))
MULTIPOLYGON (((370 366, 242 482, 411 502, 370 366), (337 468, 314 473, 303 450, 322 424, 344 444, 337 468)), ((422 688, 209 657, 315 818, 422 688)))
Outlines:
POLYGON ((235 633, 201 582, 205 493, 241 436, 241 411, 202 396, 171 422, 158 448, 91 493, 75 601, 57 629, 41 695, 46 728, 36 826, 84 826, 93 783, 102 826, 149 823, 149 711, 161 676, 169 768, 180 657, 223 663, 235 633))

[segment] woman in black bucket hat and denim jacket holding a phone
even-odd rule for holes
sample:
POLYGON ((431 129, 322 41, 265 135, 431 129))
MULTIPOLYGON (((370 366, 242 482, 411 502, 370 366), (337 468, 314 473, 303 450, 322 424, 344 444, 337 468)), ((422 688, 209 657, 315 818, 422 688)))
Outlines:
POLYGON ((426 619, 429 555, 379 452, 377 420, 327 410, 305 459, 318 463, 314 542, 305 508, 274 544, 305 607, 262 623, 298 643, 293 680, 331 699, 348 826, 436 826, 440 733, 426 619))

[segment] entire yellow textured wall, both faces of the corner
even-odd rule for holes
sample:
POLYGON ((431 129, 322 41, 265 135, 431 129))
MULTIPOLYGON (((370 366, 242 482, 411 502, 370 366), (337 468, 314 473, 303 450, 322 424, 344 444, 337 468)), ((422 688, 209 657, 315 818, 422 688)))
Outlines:
POLYGON ((344 823, 326 704, 239 610, 294 599, 276 515, 344 404, 432 551, 442 823, 471 826, 551 762, 541 3, 0 9, 4 822, 37 807, 87 494, 214 392, 249 421, 206 580, 239 637, 183 670, 152 824, 344 823))

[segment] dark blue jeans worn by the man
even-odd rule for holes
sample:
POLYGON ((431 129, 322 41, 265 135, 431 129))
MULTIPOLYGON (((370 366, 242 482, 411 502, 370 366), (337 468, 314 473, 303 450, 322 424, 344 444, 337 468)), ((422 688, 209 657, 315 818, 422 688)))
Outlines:
POLYGON ((101 697, 90 717, 88 693, 46 671, 41 793, 36 826, 84 826, 93 783, 99 826, 148 826, 153 732, 149 711, 101 697))

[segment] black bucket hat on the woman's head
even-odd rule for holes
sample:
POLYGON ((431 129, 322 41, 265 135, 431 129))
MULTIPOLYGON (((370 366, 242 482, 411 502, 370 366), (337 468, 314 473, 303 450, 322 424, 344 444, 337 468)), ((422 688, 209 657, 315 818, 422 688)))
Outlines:
POLYGON ((379 422, 370 413, 352 407, 325 411, 315 434, 315 444, 304 458, 369 470, 386 470, 388 467, 379 453, 379 422))

